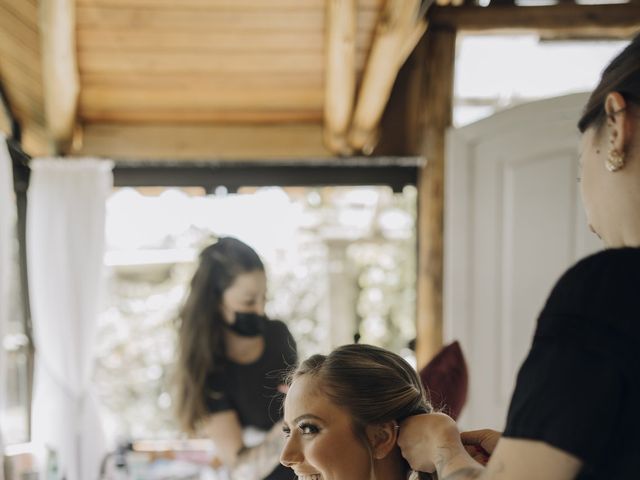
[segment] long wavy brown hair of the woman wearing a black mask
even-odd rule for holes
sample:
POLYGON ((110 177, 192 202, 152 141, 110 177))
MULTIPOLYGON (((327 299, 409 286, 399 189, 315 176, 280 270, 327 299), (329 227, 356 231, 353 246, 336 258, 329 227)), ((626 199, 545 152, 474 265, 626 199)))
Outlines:
POLYGON ((187 432, 193 432, 207 414, 207 377, 224 368, 224 291, 238 275, 256 270, 264 271, 260 257, 235 238, 221 238, 200 253, 191 290, 180 313, 178 339, 177 414, 187 432))

